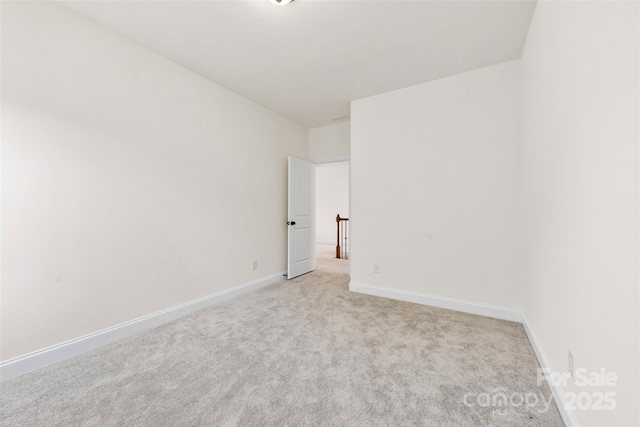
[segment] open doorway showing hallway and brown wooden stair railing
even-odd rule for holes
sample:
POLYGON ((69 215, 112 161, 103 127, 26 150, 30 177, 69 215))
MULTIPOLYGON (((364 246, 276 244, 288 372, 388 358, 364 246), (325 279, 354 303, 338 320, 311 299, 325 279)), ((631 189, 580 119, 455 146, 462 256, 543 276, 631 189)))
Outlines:
POLYGON ((317 268, 349 274, 349 237, 349 162, 317 164, 317 268))

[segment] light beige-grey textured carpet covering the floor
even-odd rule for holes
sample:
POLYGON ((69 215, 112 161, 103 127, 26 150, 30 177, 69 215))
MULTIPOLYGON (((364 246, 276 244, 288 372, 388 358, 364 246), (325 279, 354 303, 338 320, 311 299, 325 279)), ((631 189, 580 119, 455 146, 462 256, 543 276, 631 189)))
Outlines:
POLYGON ((563 425, 520 324, 350 293, 346 265, 6 381, 0 422, 563 425))

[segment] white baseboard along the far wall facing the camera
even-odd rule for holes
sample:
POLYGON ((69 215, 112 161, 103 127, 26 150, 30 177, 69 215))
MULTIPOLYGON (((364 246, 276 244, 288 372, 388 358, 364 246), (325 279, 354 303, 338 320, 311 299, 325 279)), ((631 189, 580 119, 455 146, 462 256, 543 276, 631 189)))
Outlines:
POLYGON ((478 314, 480 316, 510 320, 512 322, 522 322, 522 311, 515 308, 423 294, 420 292, 390 289, 382 286, 374 286, 357 282, 349 283, 349 290, 351 292, 375 295, 378 297, 413 302, 422 305, 430 305, 432 307, 446 308, 449 310, 461 311, 463 313, 478 314))

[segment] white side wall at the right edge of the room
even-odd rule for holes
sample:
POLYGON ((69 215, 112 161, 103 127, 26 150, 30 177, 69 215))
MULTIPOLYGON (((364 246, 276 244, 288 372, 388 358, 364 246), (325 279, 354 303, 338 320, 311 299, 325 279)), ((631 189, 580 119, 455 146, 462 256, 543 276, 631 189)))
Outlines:
POLYGON ((525 314, 554 370, 619 377, 581 425, 640 425, 638 12, 538 2, 522 56, 525 314))

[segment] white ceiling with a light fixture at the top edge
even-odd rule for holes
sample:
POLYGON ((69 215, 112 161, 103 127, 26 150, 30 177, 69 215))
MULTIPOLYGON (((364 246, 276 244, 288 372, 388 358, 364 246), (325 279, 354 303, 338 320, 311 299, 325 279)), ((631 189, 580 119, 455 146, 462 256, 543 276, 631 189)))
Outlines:
POLYGON ((349 101, 520 57, 532 1, 62 1, 307 127, 349 101))

